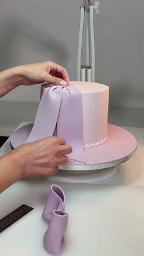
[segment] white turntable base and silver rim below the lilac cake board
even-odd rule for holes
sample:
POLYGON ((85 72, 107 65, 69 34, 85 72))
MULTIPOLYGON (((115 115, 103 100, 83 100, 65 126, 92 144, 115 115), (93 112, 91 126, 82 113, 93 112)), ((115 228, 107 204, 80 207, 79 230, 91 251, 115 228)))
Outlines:
POLYGON ((134 156, 136 149, 129 156, 103 164, 59 166, 59 172, 46 181, 63 183, 108 184, 120 174, 120 164, 134 156))

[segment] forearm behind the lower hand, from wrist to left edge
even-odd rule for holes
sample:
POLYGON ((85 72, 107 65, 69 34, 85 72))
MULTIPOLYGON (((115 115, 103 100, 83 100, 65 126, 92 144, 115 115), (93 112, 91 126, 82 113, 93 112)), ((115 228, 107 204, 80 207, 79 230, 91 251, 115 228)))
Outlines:
POLYGON ((21 168, 11 153, 0 158, 0 194, 22 177, 21 168))

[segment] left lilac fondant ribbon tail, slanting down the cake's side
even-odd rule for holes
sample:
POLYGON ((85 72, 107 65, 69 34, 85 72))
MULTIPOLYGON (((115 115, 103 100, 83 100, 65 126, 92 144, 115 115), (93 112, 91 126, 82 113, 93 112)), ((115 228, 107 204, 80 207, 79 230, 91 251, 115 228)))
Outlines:
POLYGON ((54 86, 45 89, 38 106, 34 126, 25 143, 38 141, 54 134, 62 100, 62 87, 54 86))

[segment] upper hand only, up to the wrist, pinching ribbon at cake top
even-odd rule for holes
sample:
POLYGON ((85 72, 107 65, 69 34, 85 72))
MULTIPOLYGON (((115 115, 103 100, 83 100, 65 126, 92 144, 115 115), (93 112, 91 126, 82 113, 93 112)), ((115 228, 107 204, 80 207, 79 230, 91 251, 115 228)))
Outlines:
POLYGON ((22 65, 19 68, 23 76, 21 83, 25 86, 41 82, 49 82, 55 86, 67 86, 70 82, 67 70, 52 61, 22 65))

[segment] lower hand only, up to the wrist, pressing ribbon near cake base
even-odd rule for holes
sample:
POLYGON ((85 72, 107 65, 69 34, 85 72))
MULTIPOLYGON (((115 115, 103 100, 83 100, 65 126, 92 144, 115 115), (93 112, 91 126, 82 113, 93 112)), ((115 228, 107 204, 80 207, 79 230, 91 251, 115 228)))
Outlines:
POLYGON ((61 137, 46 137, 39 141, 23 144, 10 152, 21 170, 21 177, 51 176, 58 166, 68 163, 70 145, 61 137))

